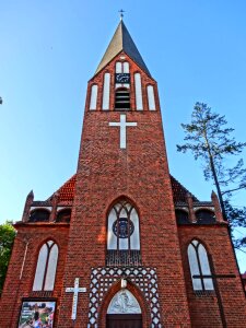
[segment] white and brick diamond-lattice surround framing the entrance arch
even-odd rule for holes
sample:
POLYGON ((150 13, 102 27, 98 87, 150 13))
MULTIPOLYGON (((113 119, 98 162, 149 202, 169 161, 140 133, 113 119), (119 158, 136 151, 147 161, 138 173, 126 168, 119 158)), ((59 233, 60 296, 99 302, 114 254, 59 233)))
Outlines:
POLYGON ((98 307, 103 302, 104 295, 113 283, 118 281, 122 276, 126 276, 128 280, 132 281, 145 296, 151 309, 151 328, 162 328, 156 269, 144 267, 92 268, 87 328, 98 327, 98 307))

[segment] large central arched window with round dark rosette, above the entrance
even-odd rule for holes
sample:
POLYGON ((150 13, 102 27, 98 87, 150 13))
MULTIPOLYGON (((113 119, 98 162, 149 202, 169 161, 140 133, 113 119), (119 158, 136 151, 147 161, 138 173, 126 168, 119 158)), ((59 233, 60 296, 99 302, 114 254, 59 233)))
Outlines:
POLYGON ((107 221, 107 263, 130 265, 140 260, 139 215, 127 200, 113 206, 107 221))

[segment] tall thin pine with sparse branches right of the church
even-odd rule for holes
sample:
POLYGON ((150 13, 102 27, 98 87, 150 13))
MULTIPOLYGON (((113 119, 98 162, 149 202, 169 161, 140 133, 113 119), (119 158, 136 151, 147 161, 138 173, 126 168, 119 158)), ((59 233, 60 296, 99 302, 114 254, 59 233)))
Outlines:
MULTIPOLYGON (((234 191, 246 189, 246 168, 243 159, 233 167, 229 166, 233 155, 242 153, 246 142, 236 142, 232 137, 233 128, 227 127, 224 116, 213 113, 203 103, 196 103, 190 124, 181 124, 185 143, 177 151, 191 151, 195 160, 201 160, 206 180, 215 185, 224 220, 232 227, 246 226, 246 209, 233 207, 231 198, 234 191)), ((246 245, 246 238, 234 238, 236 247, 246 245)))

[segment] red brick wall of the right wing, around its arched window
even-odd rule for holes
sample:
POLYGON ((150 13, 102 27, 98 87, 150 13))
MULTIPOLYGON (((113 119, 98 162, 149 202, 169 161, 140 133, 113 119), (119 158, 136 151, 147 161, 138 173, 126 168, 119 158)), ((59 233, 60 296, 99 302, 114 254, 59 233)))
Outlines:
POLYGON ((178 227, 178 234, 192 327, 222 327, 215 293, 196 295, 192 291, 187 247, 194 238, 200 241, 207 248, 207 251, 212 255, 216 274, 236 276, 236 278, 218 279, 218 284, 223 301, 227 327, 245 327, 245 295, 226 224, 208 226, 181 225, 178 227))

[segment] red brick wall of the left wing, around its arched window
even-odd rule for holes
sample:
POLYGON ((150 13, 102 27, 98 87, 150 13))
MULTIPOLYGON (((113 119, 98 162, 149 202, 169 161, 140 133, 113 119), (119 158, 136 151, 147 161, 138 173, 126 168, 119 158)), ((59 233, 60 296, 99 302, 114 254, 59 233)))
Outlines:
POLYGON ((20 225, 16 224, 15 229, 17 230, 17 236, 14 241, 1 298, 1 328, 16 327, 23 297, 55 297, 58 300, 59 313, 59 297, 62 290, 69 224, 21 223, 20 225), (47 239, 55 241, 59 247, 55 290, 46 293, 32 292, 39 248, 47 239), (25 241, 28 241, 28 248, 22 279, 20 280, 26 245, 25 241))

